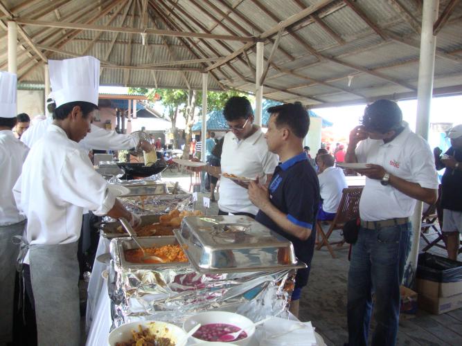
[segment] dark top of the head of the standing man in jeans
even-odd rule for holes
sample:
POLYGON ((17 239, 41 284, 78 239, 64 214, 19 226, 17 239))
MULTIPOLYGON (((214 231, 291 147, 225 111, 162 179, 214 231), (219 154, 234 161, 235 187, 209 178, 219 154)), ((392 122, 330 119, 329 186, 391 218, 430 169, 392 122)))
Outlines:
POLYGON ((396 102, 377 100, 364 110, 362 125, 368 131, 384 134, 399 129, 402 125, 402 111, 396 102))

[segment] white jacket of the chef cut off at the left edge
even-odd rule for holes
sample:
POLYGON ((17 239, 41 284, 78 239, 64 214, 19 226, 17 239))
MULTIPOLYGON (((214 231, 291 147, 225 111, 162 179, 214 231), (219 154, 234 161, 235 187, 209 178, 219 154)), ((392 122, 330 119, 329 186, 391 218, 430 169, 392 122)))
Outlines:
POLYGON ((0 131, 0 226, 17 224, 24 220, 16 207, 12 188, 21 175, 22 164, 29 148, 10 130, 0 131))

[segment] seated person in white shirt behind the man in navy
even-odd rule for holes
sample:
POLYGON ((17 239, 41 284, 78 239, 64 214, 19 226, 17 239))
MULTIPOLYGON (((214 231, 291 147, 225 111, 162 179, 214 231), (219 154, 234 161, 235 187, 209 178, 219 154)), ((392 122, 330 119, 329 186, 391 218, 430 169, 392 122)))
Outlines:
POLYGON ((344 171, 334 167, 335 160, 332 155, 318 156, 319 189, 321 190, 321 203, 319 203, 318 220, 333 220, 339 208, 342 191, 348 188, 344 171))

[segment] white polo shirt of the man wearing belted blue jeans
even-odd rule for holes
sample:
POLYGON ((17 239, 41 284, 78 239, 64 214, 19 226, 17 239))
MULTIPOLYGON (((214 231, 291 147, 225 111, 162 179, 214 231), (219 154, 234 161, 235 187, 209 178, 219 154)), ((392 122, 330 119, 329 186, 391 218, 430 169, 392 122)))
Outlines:
MULTIPOLYGON (((355 150, 358 163, 373 163, 405 181, 418 183, 423 188, 438 189, 434 156, 429 144, 414 134, 409 127, 391 142, 367 138, 355 150)), ((366 178, 359 200, 359 216, 364 221, 380 221, 397 217, 410 217, 416 199, 407 196, 380 180, 366 178)))

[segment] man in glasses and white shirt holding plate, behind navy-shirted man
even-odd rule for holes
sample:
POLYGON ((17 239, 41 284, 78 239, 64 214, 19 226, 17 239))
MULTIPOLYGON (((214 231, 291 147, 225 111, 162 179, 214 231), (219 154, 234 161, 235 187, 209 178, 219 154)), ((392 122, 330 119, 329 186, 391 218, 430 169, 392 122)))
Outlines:
MULTIPOLYGON (((234 174, 269 181, 278 165, 276 154, 268 151, 265 134, 254 124, 254 111, 245 97, 233 96, 226 101, 223 115, 229 127, 224 136, 221 167, 205 166, 213 175, 234 174)), ((222 177, 218 215, 247 215, 252 218, 258 208, 249 200, 247 185, 222 177)))

